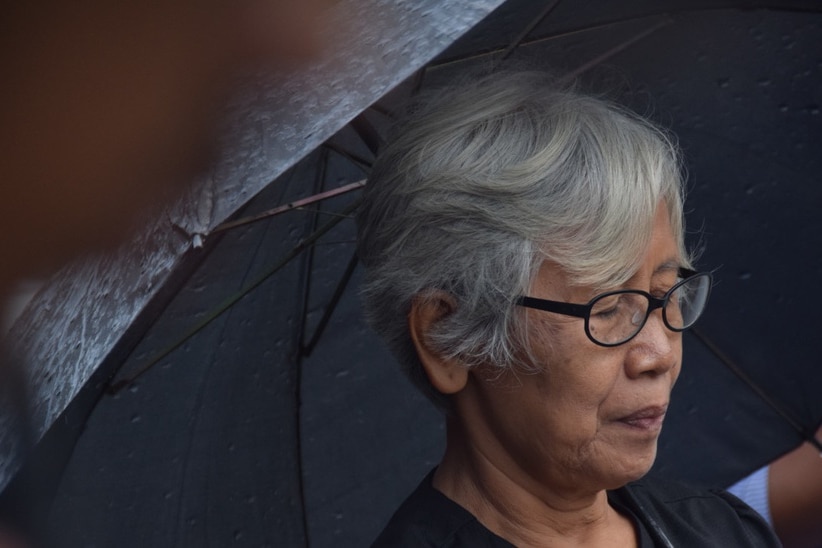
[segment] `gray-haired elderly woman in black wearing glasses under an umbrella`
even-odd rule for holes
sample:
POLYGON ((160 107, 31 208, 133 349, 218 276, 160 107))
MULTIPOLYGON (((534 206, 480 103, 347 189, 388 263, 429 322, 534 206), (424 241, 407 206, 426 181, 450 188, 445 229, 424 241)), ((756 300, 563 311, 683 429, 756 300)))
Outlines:
POLYGON ((724 492, 637 481, 711 283, 682 200, 662 132, 539 73, 401 126, 358 219, 365 303, 447 445, 376 546, 778 545, 724 492))

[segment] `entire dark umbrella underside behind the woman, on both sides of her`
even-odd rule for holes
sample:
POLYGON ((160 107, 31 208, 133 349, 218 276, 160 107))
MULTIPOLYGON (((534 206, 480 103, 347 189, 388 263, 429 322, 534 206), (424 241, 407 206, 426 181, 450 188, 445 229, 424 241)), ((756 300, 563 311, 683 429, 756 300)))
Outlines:
MULTIPOLYGON (((619 4, 510 0, 422 85, 521 39, 511 60, 577 74, 671 128, 689 172, 690 239, 704 248, 699 265, 716 269, 700 329, 813 430, 822 16, 810 2, 619 4)), ((386 124, 367 113, 243 215, 362 179, 368 128, 386 124)), ((355 194, 322 210, 344 212, 355 194)), ((363 326, 358 271, 313 351, 300 351, 345 277, 350 221, 184 337, 334 218, 292 211, 211 240, 118 372, 133 382, 115 385, 85 423, 51 510, 67 545, 362 545, 437 461, 441 420, 363 326)), ((714 352, 690 335, 685 346, 655 473, 727 485, 800 442, 714 352)))

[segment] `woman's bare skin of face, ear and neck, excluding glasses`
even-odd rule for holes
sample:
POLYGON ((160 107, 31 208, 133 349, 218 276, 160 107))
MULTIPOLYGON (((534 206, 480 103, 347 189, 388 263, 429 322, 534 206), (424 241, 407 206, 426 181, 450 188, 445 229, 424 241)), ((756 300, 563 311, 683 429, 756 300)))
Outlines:
MULTIPOLYGON (((667 208, 658 207, 650 246, 624 287, 664 295, 681 260, 667 208)), ((570 285, 551 263, 529 292, 574 303, 595 293, 570 285)), ((500 374, 466 369, 426 343, 425 333, 453 306, 428 299, 409 317, 423 367, 452 403, 434 486, 517 546, 635 543, 606 490, 642 477, 654 462, 681 367, 681 333, 655 311, 636 337, 606 348, 588 339, 580 318, 527 310, 530 352, 523 355, 537 372, 500 374)))

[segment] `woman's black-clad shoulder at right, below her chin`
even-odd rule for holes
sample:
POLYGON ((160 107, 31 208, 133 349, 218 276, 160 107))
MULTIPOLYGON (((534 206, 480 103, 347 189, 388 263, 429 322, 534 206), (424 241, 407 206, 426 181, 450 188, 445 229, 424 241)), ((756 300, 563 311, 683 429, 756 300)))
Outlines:
POLYGON ((646 478, 614 496, 647 520, 646 525, 667 532, 677 546, 781 546, 762 516, 722 489, 646 478))

